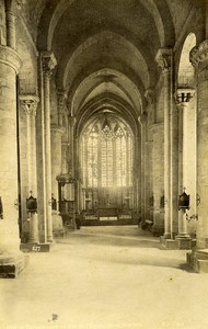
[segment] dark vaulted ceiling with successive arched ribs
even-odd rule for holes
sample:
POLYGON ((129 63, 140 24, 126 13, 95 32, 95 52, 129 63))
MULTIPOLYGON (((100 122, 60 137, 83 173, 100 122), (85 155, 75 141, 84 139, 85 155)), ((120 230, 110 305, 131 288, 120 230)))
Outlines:
POLYGON ((174 46, 182 2, 183 23, 197 0, 27 1, 38 50, 55 54, 57 88, 78 120, 107 104, 127 121, 138 118, 146 90, 158 81, 158 49, 174 46))

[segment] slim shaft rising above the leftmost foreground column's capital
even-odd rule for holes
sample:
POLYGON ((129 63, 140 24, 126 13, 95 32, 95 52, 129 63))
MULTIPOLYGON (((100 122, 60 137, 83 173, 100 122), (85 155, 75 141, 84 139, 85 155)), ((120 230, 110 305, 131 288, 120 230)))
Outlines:
POLYGON ((7 46, 15 49, 15 0, 5 0, 7 46))

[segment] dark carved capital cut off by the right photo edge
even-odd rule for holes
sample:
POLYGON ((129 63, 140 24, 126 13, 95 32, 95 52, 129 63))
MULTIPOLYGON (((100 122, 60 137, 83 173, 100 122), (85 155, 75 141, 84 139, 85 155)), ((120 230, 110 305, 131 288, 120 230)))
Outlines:
POLYGON ((198 46, 195 46, 189 53, 189 60, 194 67, 201 64, 208 65, 208 39, 205 39, 198 46))

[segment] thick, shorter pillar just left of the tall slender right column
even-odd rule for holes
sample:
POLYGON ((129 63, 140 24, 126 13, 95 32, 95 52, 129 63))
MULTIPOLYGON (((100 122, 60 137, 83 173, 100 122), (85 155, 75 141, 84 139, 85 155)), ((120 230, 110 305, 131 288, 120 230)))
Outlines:
POLYGON ((152 177, 153 177, 153 227, 154 236, 164 232, 164 124, 157 123, 151 127, 153 137, 152 177))

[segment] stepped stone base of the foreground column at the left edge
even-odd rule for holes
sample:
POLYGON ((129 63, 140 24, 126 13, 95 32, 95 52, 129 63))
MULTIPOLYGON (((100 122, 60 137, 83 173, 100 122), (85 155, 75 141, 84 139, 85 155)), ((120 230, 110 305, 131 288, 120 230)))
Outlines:
POLYGON ((27 265, 30 257, 22 252, 0 254, 0 279, 15 279, 27 265))

